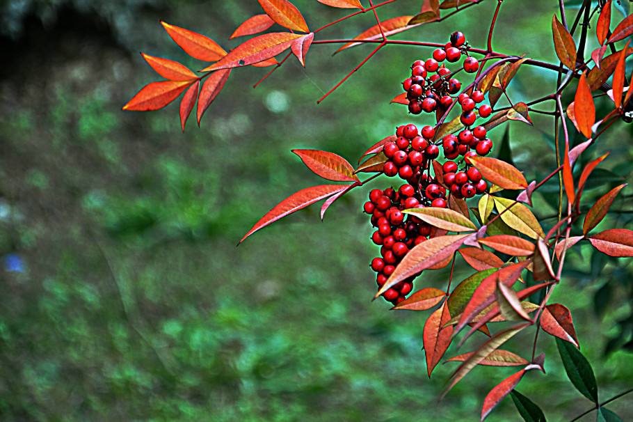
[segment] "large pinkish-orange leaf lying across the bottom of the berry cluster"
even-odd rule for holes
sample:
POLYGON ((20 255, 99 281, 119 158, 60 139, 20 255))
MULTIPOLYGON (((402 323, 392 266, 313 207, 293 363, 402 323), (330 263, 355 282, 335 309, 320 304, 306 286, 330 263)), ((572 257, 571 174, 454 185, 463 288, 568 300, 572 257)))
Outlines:
POLYGON ((408 279, 408 277, 414 276, 424 269, 431 268, 433 265, 443 263, 459 249, 469 236, 473 235, 438 236, 413 247, 400 261, 396 270, 387 279, 387 282, 383 284, 383 287, 378 290, 376 297, 382 295, 385 290, 391 288, 394 284, 408 279))

